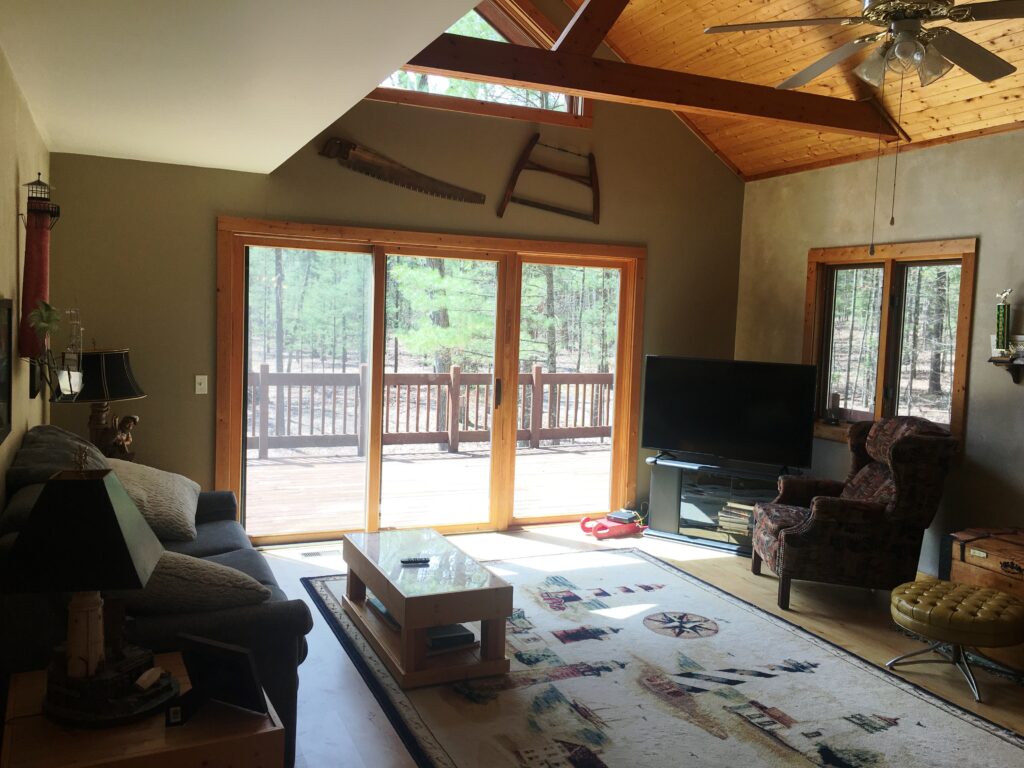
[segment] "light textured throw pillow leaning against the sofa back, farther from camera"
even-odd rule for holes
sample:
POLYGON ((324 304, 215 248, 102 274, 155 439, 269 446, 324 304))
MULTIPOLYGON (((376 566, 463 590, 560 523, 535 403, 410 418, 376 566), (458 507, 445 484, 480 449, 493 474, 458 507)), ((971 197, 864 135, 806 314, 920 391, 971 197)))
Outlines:
POLYGON ((199 483, 143 464, 120 459, 111 459, 110 463, 158 539, 165 542, 196 540, 199 483))

